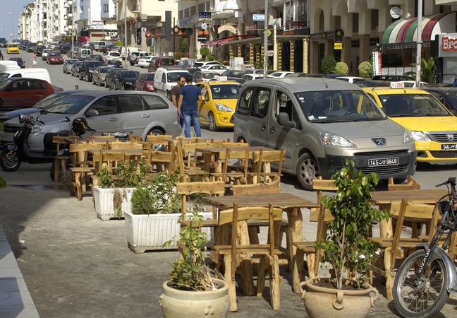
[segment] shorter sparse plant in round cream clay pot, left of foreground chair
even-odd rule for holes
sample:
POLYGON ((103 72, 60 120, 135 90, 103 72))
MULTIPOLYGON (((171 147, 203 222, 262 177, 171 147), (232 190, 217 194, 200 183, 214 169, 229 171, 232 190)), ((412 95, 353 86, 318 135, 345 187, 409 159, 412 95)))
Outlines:
MULTIPOLYGON (((162 285, 160 306, 164 318, 227 317, 229 314, 229 285, 209 276, 205 264, 203 249, 207 235, 198 229, 202 219, 199 208, 193 208, 188 215, 190 223, 181 230, 178 242, 181 242, 183 257, 173 262, 171 279, 162 285)), ((166 242, 165 246, 170 243, 166 242)))

